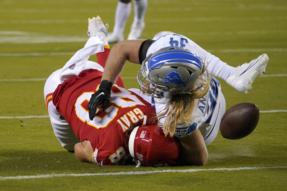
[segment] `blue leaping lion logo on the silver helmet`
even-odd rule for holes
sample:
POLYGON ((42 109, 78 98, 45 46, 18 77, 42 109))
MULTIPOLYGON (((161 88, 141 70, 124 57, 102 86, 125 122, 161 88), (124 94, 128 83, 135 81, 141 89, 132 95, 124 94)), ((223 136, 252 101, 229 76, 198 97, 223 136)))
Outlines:
POLYGON ((187 87, 188 82, 193 78, 194 76, 191 75, 188 81, 183 81, 182 76, 177 71, 173 70, 169 73, 167 73, 163 78, 166 81, 163 81, 163 84, 176 84, 176 87, 187 87))

